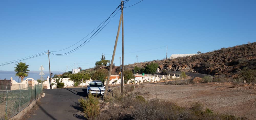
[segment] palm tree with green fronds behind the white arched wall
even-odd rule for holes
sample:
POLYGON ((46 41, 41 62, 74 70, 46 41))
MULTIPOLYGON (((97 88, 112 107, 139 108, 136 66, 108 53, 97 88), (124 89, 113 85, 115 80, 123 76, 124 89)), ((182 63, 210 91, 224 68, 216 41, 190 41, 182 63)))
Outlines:
POLYGON ((21 78, 21 82, 22 82, 23 78, 28 76, 28 71, 29 71, 28 65, 26 65, 26 63, 19 62, 18 64, 16 64, 16 67, 15 67, 15 72, 17 72, 15 76, 18 76, 19 78, 21 78))

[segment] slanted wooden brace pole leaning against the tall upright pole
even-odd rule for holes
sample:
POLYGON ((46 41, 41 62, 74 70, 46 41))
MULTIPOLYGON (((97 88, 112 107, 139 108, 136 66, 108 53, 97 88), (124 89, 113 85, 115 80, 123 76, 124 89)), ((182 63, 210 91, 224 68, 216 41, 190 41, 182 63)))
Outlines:
POLYGON ((117 30, 117 34, 116 34, 116 38, 115 38, 115 45, 114 45, 114 50, 113 50, 112 59, 111 59, 111 63, 110 63, 109 75, 108 75, 107 83, 106 83, 106 86, 105 86, 105 93, 104 93, 104 96, 103 96, 104 98, 106 97, 106 94, 107 94, 107 92, 108 92, 109 79, 110 79, 111 72, 112 72, 112 66, 113 66, 114 57, 115 57, 116 45, 117 45, 117 41, 118 41, 118 37, 119 37, 119 31, 120 31, 120 26, 121 26, 121 20, 122 20, 122 14, 120 15, 118 30, 117 30))

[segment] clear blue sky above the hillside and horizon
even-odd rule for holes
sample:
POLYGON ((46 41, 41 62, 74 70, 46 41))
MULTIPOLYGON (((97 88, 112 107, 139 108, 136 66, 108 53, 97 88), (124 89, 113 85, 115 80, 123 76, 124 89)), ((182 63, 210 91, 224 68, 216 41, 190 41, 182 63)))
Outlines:
MULTIPOLYGON (((130 0, 130 6, 139 0, 130 0)), ((0 63, 46 50, 58 51, 78 42, 104 19, 120 1, 0 1, 0 63)), ((256 1, 144 0, 124 9, 124 63, 163 59, 171 54, 209 52, 256 41, 256 1), (153 48, 158 48, 149 50, 153 48), (144 51, 149 50, 149 51, 144 51), (136 52, 143 51, 143 52, 136 52), (135 53, 129 53, 135 52, 135 53)), ((111 59, 119 12, 109 24, 81 49, 65 55, 50 55, 51 70, 69 71, 95 66, 102 53, 111 59)), ((120 65, 121 31, 114 63, 120 65)), ((80 42, 81 44, 81 42, 80 42)), ((57 54, 68 52, 70 49, 57 54)), ((26 61, 30 70, 49 70, 48 56, 26 61)), ((14 70, 15 64, 0 70, 14 70)), ((54 73, 55 74, 55 73, 54 73)))

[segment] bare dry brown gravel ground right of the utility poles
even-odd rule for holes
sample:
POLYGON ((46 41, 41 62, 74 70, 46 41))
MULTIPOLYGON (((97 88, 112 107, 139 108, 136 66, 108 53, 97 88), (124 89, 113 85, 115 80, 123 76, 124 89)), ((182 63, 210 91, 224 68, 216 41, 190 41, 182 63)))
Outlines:
POLYGON ((176 102, 189 108, 191 103, 200 102, 204 108, 215 113, 230 114, 256 119, 256 85, 225 83, 201 83, 189 85, 143 85, 135 89, 149 100, 157 99, 176 102))

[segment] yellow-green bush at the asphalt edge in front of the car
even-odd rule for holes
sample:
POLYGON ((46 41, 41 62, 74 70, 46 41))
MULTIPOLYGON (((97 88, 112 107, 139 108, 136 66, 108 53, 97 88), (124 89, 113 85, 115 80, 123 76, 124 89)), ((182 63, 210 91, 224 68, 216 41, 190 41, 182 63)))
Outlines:
POLYGON ((98 106, 99 98, 88 94, 87 99, 80 98, 80 106, 83 108, 84 117, 87 119, 96 119, 100 114, 100 107, 98 106))

